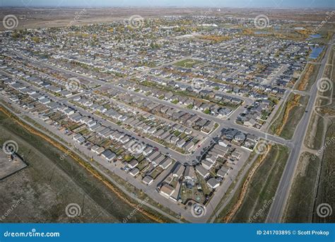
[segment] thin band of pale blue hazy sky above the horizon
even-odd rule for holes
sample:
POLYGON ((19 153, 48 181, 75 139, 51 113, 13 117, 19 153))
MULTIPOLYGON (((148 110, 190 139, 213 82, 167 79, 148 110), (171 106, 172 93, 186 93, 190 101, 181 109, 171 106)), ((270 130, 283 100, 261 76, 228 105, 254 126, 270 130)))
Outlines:
POLYGON ((204 6, 335 8, 335 0, 0 0, 1 6, 204 6))

